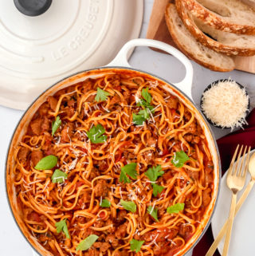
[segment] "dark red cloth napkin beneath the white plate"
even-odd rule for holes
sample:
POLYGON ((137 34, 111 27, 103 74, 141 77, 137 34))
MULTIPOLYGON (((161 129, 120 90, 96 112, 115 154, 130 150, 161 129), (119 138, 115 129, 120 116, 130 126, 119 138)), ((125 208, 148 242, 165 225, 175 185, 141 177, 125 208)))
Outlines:
MULTIPOLYGON (((230 167, 230 161, 237 144, 251 146, 252 149, 255 148, 255 108, 249 113, 246 120, 248 125, 246 125, 244 129, 231 132, 229 135, 217 140, 222 161, 222 175, 230 167)), ((209 226, 206 234, 204 234, 202 239, 198 242, 198 245, 194 247, 192 256, 205 256, 213 242, 214 237, 211 226, 209 226)), ((217 250, 214 256, 221 256, 221 254, 219 254, 217 250)))

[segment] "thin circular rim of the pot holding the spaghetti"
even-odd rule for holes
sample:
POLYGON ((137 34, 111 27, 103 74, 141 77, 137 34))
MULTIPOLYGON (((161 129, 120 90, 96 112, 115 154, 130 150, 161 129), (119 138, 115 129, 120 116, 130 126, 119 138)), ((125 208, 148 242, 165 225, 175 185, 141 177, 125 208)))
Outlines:
MULTIPOLYGON (((214 202, 214 209, 213 211, 210 212, 210 217, 208 218, 207 220, 207 223, 205 226, 203 226, 203 229, 201 231, 201 233, 198 235, 198 238, 190 245, 189 248, 187 248, 186 252, 183 254, 187 254, 188 252, 190 252, 190 250, 194 249, 194 246, 196 246, 198 244, 198 242, 201 240, 202 236, 206 233, 206 230, 208 229, 208 227, 210 226, 210 223, 211 223, 211 220, 212 220, 212 217, 214 215, 214 211, 215 211, 215 208, 216 208, 216 205, 218 203, 218 197, 219 197, 219 192, 220 192, 220 183, 221 183, 221 179, 222 179, 222 165, 221 165, 221 160, 220 160, 220 155, 219 155, 219 151, 218 151, 218 144, 216 142, 216 139, 215 139, 215 136, 214 136, 214 133, 212 131, 212 129, 210 128, 210 124, 208 123, 208 121, 206 120, 206 117, 204 116, 204 114, 202 113, 202 111, 194 104, 193 100, 190 99, 190 96, 187 96, 186 93, 182 92, 176 85, 168 82, 166 79, 163 79, 162 77, 158 77, 158 76, 155 76, 155 74, 153 73, 150 73, 150 72, 147 72, 147 71, 143 71, 141 69, 135 69, 135 68, 132 68, 132 67, 124 67, 124 66, 104 66, 104 67, 96 67, 96 68, 93 68, 93 69, 85 69, 83 71, 80 71, 80 72, 77 72, 77 73, 73 73, 72 75, 69 75, 67 77, 64 77, 62 78, 61 80, 55 82, 53 85, 50 85, 49 88, 45 89, 39 96, 37 96, 31 104, 29 104, 29 107, 26 108, 25 112, 22 114, 21 118, 18 120, 18 124, 16 124, 15 128, 14 128, 14 132, 12 133, 12 136, 11 136, 11 139, 10 139, 10 142, 9 142, 9 145, 8 145, 8 150, 6 152, 6 161, 5 161, 5 191, 6 191, 6 198, 7 198, 7 202, 8 202, 8 206, 10 208, 10 211, 11 211, 11 215, 13 216, 14 218, 14 222, 17 224, 18 226, 18 229, 21 231, 21 234, 24 238, 26 238, 26 242, 29 243, 29 246, 31 246, 31 248, 33 249, 33 251, 35 251, 39 256, 43 256, 41 253, 38 252, 37 248, 35 248, 35 246, 33 246, 31 244, 31 242, 29 242, 29 238, 26 237, 26 235, 23 233, 22 231, 22 228, 21 226, 18 225, 18 221, 17 219, 15 218, 14 216, 14 211, 13 211, 13 208, 11 207, 10 205, 10 198, 9 198, 9 193, 8 193, 8 190, 7 190, 7 166, 8 166, 8 160, 9 160, 9 156, 10 156, 10 149, 11 149, 11 144, 14 140, 14 135, 19 127, 19 125, 21 124, 24 116, 26 116, 26 113, 29 111, 29 109, 33 106, 33 104, 36 103, 36 101, 38 99, 41 98, 41 96, 43 94, 45 94, 49 89, 53 89, 54 86, 58 85, 59 83, 71 78, 71 77, 75 77, 77 76, 78 74, 81 74, 81 73, 88 73, 89 71, 96 71, 96 70, 104 70, 104 69, 125 69, 125 70, 129 70, 129 71, 135 71, 135 72, 139 72, 139 73, 145 73, 151 77, 154 77, 156 79, 159 79, 163 82, 165 82, 166 84, 168 85, 171 85, 174 89, 176 89, 179 93, 181 93, 183 96, 186 97, 186 99, 188 99, 190 101, 190 104, 194 106, 194 108, 198 111, 198 113, 202 116, 202 120, 204 121, 204 123, 206 124, 206 127, 208 128, 209 132, 210 132, 210 135, 212 137, 212 140, 214 142, 214 148, 216 150, 216 153, 217 153, 217 162, 218 162, 218 191, 217 191, 217 195, 216 195, 216 199, 215 199, 215 202, 214 202)), ((55 92, 57 93, 57 92, 55 92)), ((215 189, 215 188, 214 188, 215 189)))

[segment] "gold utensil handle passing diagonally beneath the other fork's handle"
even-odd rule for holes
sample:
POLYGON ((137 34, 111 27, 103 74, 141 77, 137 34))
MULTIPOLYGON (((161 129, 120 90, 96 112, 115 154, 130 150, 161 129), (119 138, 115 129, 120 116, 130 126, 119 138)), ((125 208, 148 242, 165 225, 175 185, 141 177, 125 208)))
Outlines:
MULTIPOLYGON (((249 192, 252 190, 253 185, 254 185, 254 180, 251 179, 249 184, 245 188, 245 191, 242 193, 241 198, 237 202, 237 207, 236 207, 234 215, 237 215, 237 212, 240 210, 242 204, 245 202, 245 199, 249 195, 249 192)), ((207 251, 206 256, 214 255, 215 250, 217 250, 217 248, 218 248, 219 242, 222 241, 224 234, 226 234, 226 228, 227 228, 228 223, 229 223, 229 219, 227 219, 226 223, 222 226, 222 229, 218 233, 217 238, 215 238, 214 243, 210 246, 210 249, 207 251)))

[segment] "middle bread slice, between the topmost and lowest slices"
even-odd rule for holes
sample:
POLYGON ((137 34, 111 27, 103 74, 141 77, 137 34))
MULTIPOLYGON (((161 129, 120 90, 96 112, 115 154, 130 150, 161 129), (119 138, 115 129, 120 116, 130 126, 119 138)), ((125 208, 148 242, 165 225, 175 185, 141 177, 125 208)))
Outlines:
POLYGON ((200 19, 195 18, 182 4, 182 0, 175 0, 175 6, 182 22, 202 45, 228 55, 252 56, 255 55, 255 36, 228 33, 215 30, 200 19))

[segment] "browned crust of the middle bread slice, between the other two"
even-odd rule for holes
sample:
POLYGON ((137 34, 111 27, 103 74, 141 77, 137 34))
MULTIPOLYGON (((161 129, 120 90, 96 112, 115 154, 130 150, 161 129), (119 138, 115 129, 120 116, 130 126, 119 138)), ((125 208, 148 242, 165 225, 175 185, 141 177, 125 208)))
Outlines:
POLYGON ((238 55, 238 56, 253 56, 255 55, 255 48, 243 48, 234 47, 231 45, 224 45, 219 41, 206 36, 194 23, 193 19, 187 14, 187 10, 182 5, 182 0, 175 0, 176 10, 179 17, 182 18, 182 22, 190 33, 206 47, 214 49, 218 53, 225 53, 227 55, 238 55))

